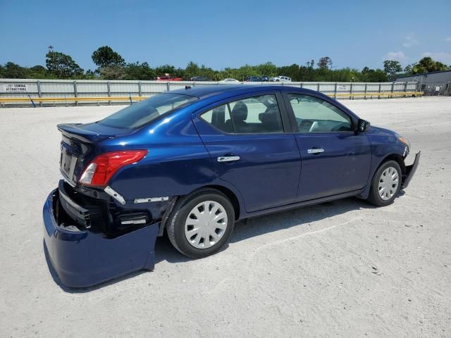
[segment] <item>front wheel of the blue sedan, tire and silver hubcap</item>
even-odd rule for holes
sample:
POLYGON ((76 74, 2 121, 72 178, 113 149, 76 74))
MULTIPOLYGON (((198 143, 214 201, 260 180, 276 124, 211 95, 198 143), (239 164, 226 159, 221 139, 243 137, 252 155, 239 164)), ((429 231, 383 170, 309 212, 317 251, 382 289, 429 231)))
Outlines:
POLYGON ((401 168, 396 161, 387 161, 374 174, 368 201, 375 206, 388 206, 401 189, 401 168))

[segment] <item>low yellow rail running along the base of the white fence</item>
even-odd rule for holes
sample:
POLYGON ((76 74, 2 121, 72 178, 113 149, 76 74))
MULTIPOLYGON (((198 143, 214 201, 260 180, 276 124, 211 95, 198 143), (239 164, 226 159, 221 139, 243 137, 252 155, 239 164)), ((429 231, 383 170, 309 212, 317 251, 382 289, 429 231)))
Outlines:
MULTIPOLYGON (((331 97, 338 96, 422 96, 423 92, 368 92, 368 93, 332 93, 326 94, 331 97)), ((81 97, 2 97, 0 102, 75 102, 75 101, 141 101, 148 99, 150 96, 81 96, 81 97)))

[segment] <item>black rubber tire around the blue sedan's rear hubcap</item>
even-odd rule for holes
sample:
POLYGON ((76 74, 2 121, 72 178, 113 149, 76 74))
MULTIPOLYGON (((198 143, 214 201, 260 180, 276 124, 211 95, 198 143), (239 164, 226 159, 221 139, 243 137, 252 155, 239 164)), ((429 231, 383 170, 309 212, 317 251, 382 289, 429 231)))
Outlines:
POLYGON ((218 190, 210 188, 199 189, 179 199, 166 224, 169 240, 175 249, 191 258, 203 258, 218 252, 228 243, 235 225, 235 211, 228 197, 218 190), (224 208, 227 213, 227 227, 216 244, 206 249, 197 249, 185 237, 185 221, 192 209, 203 201, 215 201, 224 208))

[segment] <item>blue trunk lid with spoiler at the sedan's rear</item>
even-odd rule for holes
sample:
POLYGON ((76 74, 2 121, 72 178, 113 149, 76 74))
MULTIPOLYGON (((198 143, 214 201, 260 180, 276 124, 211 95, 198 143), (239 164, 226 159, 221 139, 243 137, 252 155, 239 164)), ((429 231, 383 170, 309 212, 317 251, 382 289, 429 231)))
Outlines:
POLYGON ((98 123, 68 123, 57 125, 61 140, 60 170, 66 181, 75 186, 82 170, 96 156, 96 144, 126 134, 130 130, 99 125, 98 123))

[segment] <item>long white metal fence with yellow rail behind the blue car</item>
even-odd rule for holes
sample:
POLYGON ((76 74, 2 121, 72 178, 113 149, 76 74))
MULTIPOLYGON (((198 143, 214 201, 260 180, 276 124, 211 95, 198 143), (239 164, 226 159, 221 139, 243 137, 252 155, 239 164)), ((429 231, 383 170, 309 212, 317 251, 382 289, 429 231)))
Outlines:
MULTIPOLYGON (((409 95, 419 92, 417 82, 240 82, 242 84, 276 84, 313 89, 336 99, 376 98, 409 95), (409 93, 409 94, 402 94, 409 93)), ((58 104, 118 104, 139 101, 186 85, 203 87, 221 82, 153 81, 153 80, 34 80, 0 79, 0 106, 56 106, 58 104), (130 99, 131 97, 131 99, 130 99), (14 100, 10 100, 14 99, 14 100), (18 99, 18 100, 16 100, 18 99)), ((227 85, 227 84, 223 84, 227 85)), ((414 94, 416 95, 416 94, 414 94)))

